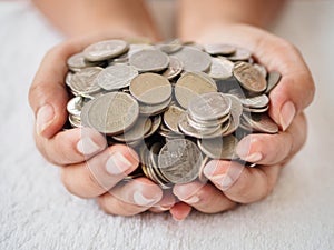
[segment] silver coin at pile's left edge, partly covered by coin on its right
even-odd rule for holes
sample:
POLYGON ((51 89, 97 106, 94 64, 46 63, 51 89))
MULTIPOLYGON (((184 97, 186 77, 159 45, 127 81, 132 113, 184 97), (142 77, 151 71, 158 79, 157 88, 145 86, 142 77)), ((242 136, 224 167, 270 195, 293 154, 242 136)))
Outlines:
POLYGON ((102 71, 99 67, 89 67, 73 74, 70 81, 70 88, 76 93, 94 93, 100 91, 100 87, 95 79, 102 71))

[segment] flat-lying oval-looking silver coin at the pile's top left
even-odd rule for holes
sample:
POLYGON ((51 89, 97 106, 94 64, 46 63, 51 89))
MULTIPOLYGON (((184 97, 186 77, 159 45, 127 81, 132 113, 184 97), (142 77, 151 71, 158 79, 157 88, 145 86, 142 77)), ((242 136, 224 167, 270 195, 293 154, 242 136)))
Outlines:
POLYGON ((84 50, 88 61, 102 61, 115 58, 128 50, 128 43, 124 40, 106 40, 90 44, 84 50))

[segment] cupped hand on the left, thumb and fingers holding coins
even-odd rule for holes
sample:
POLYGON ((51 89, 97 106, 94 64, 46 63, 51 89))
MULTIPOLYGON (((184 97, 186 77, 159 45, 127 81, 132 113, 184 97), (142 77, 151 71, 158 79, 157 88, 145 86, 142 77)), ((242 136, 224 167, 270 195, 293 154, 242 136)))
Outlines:
POLYGON ((48 161, 60 166, 61 179, 69 192, 97 198, 105 211, 120 216, 132 216, 153 207, 155 212, 165 211, 174 206, 175 198, 164 194, 150 180, 120 182, 138 167, 138 156, 132 149, 121 144, 108 148, 106 139, 92 129, 61 131, 67 120, 66 61, 86 46, 109 36, 72 39, 47 53, 29 93, 36 114, 36 144, 48 161))

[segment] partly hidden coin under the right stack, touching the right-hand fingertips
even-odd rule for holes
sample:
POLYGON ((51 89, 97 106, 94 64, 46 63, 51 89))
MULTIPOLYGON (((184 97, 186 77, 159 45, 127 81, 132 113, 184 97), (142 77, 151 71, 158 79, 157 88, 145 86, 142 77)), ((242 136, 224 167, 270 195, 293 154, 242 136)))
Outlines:
POLYGON ((234 136, 197 140, 198 148, 212 159, 233 160, 237 158, 235 148, 238 140, 234 136))

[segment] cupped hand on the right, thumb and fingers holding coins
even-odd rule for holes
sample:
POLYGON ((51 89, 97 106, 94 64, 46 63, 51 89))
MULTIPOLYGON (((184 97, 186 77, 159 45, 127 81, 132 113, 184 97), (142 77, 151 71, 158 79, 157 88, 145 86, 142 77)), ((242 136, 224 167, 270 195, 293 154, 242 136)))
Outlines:
POLYGON ((281 170, 306 140, 303 110, 312 102, 314 83, 298 50, 287 41, 246 24, 222 24, 205 29, 194 37, 199 43, 224 42, 253 52, 268 71, 282 73, 282 80, 271 92, 269 116, 279 124, 277 134, 250 134, 237 146, 238 156, 256 168, 237 162, 213 160, 204 168, 212 183, 198 181, 174 187, 179 200, 195 209, 215 213, 267 197, 281 170))

